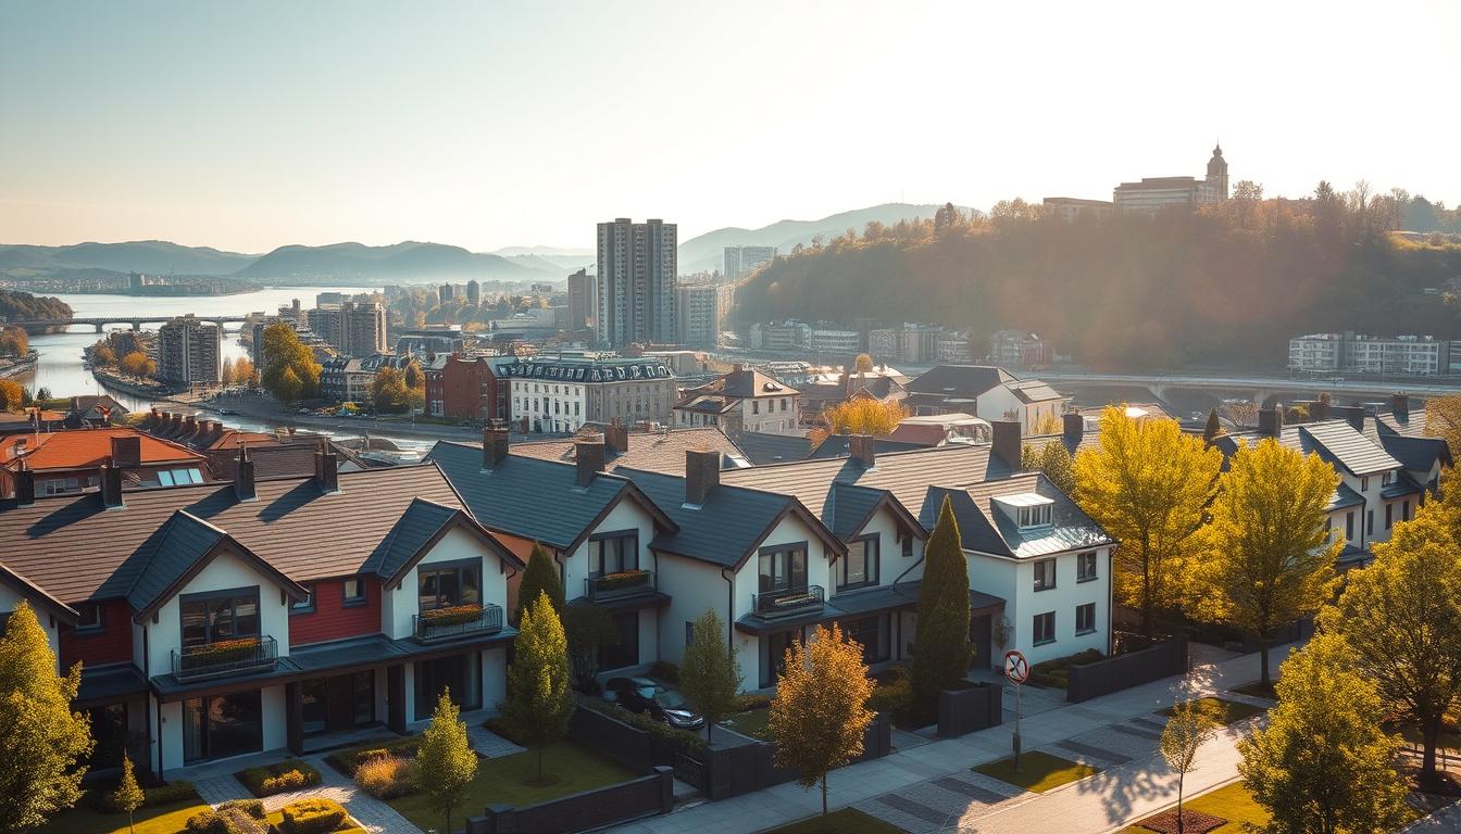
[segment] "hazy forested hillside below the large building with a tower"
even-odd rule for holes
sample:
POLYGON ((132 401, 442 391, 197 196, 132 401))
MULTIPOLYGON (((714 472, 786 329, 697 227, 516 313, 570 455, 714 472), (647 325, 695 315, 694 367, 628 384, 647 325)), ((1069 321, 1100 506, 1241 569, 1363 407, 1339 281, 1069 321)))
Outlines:
POLYGON ((1454 294, 1426 292, 1461 282, 1461 244, 1392 234, 1413 209, 1327 183, 1305 200, 1239 183, 1195 213, 1069 223, 1021 200, 977 218, 950 206, 777 259, 739 288, 735 318, 1029 329, 1093 368, 1281 367, 1289 337, 1318 330, 1461 337, 1454 294))

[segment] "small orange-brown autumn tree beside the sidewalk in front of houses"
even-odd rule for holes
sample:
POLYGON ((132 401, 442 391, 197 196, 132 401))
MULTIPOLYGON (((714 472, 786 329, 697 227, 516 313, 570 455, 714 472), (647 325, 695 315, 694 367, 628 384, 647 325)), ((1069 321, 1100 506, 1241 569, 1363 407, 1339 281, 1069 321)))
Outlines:
POLYGON ((836 622, 831 630, 818 625, 809 644, 798 640, 786 650, 786 672, 771 701, 776 764, 795 770, 802 787, 821 783, 823 816, 827 773, 862 755, 874 717, 866 707, 871 695, 862 644, 844 640, 836 622))

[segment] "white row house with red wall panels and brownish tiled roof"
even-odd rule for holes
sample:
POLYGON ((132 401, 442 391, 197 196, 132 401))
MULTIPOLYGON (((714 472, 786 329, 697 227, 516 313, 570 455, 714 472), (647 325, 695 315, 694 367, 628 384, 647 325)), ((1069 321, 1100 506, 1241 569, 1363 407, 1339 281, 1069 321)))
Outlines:
POLYGON ((83 665, 95 768, 298 755, 405 732, 446 689, 503 698, 522 565, 437 467, 340 473, 321 450, 310 478, 256 479, 245 451, 231 483, 134 491, 121 472, 88 495, 22 479, 0 505, 0 608, 32 602, 60 666, 83 665))

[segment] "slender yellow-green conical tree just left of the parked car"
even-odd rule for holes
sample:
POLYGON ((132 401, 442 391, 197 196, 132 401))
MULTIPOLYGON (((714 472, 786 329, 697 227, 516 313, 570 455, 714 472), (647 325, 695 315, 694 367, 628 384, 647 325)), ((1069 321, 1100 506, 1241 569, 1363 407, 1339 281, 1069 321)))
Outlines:
POLYGON ((507 669, 503 720, 513 735, 538 749, 538 783, 543 781, 543 748, 568 732, 576 703, 568 688, 568 640, 546 593, 523 609, 516 656, 507 669))

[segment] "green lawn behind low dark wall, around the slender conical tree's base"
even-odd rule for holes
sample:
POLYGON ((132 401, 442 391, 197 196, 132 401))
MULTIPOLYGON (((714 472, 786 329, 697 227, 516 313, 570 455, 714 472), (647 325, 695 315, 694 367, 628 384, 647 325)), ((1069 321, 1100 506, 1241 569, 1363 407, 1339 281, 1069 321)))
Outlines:
MULTIPOLYGON (((536 774, 536 751, 481 760, 476 778, 466 789, 466 802, 462 809, 453 812, 453 818, 481 814, 488 805, 524 808, 634 778, 634 771, 619 762, 573 742, 557 742, 543 748, 543 774, 555 776, 558 781, 548 786, 527 784, 536 774)), ((441 828, 444 822, 441 812, 431 809, 424 793, 392 799, 390 806, 421 830, 441 828)))

